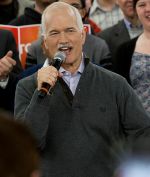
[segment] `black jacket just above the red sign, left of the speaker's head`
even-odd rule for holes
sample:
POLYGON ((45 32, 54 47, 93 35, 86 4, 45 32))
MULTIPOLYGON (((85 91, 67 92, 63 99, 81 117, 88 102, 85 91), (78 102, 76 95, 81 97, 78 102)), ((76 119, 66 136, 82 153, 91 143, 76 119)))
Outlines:
POLYGON ((26 7, 23 15, 17 17, 9 23, 9 25, 14 26, 31 24, 41 24, 41 14, 30 7, 26 7))

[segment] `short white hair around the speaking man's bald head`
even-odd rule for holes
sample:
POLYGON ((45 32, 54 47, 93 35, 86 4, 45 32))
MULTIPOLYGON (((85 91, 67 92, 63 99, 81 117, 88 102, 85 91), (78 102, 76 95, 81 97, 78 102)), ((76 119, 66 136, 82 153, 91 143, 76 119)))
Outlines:
MULTIPOLYGON (((59 6, 68 7, 68 9, 70 9, 70 10, 73 11, 73 13, 74 13, 74 15, 75 15, 75 17, 76 17, 76 20, 77 20, 78 28, 79 28, 80 31, 82 31, 83 28, 84 28, 84 26, 83 26, 83 22, 82 22, 82 17, 81 17, 81 15, 80 15, 80 13, 78 12, 78 10, 77 10, 75 7, 73 7, 73 6, 71 6, 71 5, 67 4, 67 3, 64 3, 64 2, 54 2, 53 4, 49 5, 49 6, 44 10, 44 12, 43 12, 43 14, 42 14, 42 19, 41 19, 41 34, 42 34, 42 35, 45 35, 45 32, 46 32, 45 16, 46 16, 48 10, 49 10, 50 8, 53 8, 53 7, 54 7, 54 8, 60 8, 59 6)), ((60 10, 62 10, 62 9, 60 9, 60 10)))

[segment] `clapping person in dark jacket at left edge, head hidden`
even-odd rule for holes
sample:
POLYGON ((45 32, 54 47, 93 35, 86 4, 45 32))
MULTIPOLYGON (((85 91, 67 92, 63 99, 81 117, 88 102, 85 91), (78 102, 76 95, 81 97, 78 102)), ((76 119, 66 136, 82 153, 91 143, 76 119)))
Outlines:
POLYGON ((13 34, 0 29, 0 108, 13 112, 15 88, 22 72, 13 34))

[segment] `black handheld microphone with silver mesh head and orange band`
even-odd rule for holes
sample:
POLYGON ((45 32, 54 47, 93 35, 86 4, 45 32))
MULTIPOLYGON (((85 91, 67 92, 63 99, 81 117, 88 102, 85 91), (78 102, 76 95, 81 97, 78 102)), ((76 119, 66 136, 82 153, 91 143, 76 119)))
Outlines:
MULTIPOLYGON (((54 66, 57 70, 59 70, 59 68, 60 68, 61 64, 64 62, 65 58, 66 58, 66 54, 64 52, 62 52, 62 51, 56 52, 56 54, 52 60, 52 66, 54 66)), ((44 82, 42 84, 40 91, 39 91, 39 97, 41 97, 41 98, 45 97, 51 88, 52 87, 50 84, 44 82)))

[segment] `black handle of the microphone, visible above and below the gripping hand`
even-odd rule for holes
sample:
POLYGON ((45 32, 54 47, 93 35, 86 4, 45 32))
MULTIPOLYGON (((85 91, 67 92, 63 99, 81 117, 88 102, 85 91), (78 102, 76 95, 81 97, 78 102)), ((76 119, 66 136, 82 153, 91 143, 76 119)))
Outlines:
MULTIPOLYGON (((57 70, 59 70, 61 64, 62 64, 62 60, 56 59, 52 65, 53 65, 57 70)), ((41 89, 40 89, 40 91, 39 91, 38 96, 39 96, 40 98, 44 98, 44 97, 47 95, 47 93, 50 91, 51 88, 52 88, 52 87, 51 87, 50 84, 48 84, 48 83, 46 83, 46 82, 43 82, 43 83, 42 83, 42 87, 41 87, 41 89)))

